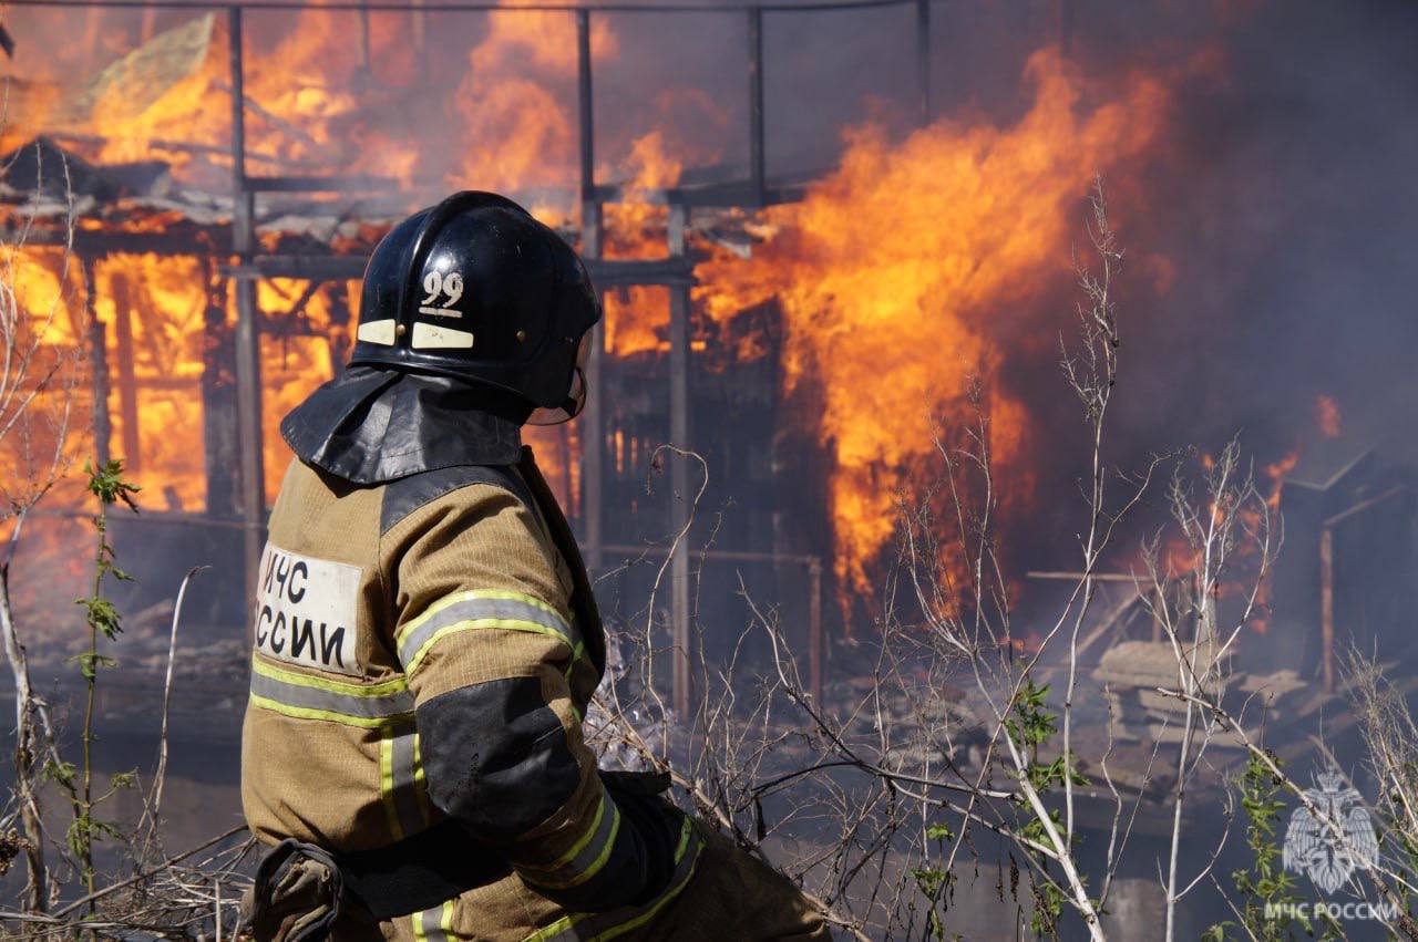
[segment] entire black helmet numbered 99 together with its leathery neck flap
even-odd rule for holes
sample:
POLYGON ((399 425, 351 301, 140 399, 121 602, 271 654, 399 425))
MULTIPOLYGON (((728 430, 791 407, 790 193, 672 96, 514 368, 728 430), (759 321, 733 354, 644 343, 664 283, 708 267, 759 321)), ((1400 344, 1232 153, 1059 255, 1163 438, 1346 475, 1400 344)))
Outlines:
POLYGON ((577 357, 600 317, 562 237, 512 200, 457 193, 374 248, 350 365, 281 435, 301 460, 356 484, 515 463, 533 412, 579 409, 577 357))

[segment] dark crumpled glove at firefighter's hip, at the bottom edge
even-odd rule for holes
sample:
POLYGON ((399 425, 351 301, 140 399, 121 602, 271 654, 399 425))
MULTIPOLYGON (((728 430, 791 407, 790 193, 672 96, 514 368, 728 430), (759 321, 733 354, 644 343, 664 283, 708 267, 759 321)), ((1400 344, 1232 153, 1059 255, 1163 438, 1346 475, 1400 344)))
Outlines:
POLYGON ((340 915, 345 881, 329 853, 284 840, 261 860, 241 901, 257 942, 323 942, 340 915))

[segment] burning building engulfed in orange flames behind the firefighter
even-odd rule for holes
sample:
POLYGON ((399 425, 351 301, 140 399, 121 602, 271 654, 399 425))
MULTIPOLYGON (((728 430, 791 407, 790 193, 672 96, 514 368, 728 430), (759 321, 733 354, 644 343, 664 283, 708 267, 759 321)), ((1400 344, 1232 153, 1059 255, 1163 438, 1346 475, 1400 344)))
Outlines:
MULTIPOLYGON (((681 646, 695 599, 732 598, 743 572, 793 609, 820 676, 824 637, 865 620, 896 494, 929 479, 932 422, 966 414, 967 377, 1022 574, 1056 551, 1037 534, 1068 490, 1041 480, 1041 456, 1068 446, 1035 377, 1055 365, 1058 322, 1039 312, 1066 305, 1078 198, 1126 171, 1124 224, 1156 231, 1130 181, 1194 156, 1188 96, 1228 81, 1204 28, 1157 38, 1171 20, 1146 27, 1166 55, 1093 50, 1083 68, 1072 6, 990 23, 927 0, 18 3, 6 220, 41 299, 61 290, 74 200, 67 341, 91 363, 89 446, 146 486, 125 538, 153 595, 133 605, 199 560, 223 586, 203 619, 242 620, 288 459, 277 424, 343 364, 380 235, 458 187, 523 200, 590 261, 600 395, 535 445, 625 598, 658 569, 623 562, 658 562, 695 516, 652 613, 681 646), (970 52, 981 35, 998 62, 970 52), (995 101, 1017 82, 977 78, 986 91, 961 95, 961 64, 1022 74, 1024 93, 995 101)), ((1207 25, 1245 16, 1221 4, 1207 25)), ((1191 297, 1187 259, 1157 245, 1134 259, 1139 297, 1191 297)), ((1160 320, 1151 336, 1177 330, 1160 320)))

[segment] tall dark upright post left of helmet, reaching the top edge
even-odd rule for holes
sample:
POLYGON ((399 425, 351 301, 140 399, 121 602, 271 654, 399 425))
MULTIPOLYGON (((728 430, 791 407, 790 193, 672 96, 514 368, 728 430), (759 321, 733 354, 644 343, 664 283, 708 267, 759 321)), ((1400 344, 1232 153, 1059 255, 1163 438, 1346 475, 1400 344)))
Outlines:
POLYGON ((231 64, 231 251, 237 256, 237 436, 241 443, 241 523, 247 591, 255 589, 265 543, 265 459, 261 441, 261 326, 257 283, 251 272, 255 248, 255 197, 247 186, 245 74, 241 61, 241 7, 230 7, 231 64))

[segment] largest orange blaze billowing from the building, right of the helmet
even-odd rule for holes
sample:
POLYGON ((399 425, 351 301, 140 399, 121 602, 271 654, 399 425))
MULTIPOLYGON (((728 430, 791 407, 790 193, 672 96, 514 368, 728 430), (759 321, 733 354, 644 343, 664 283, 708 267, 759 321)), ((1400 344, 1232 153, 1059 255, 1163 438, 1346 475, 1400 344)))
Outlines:
POLYGON ((893 533, 895 492, 929 459, 932 419, 963 418, 970 375, 990 392, 1005 500, 1028 500, 1029 421, 991 378, 1001 339, 1018 327, 1010 309, 1066 263, 1090 177, 1159 136, 1159 79, 1136 75, 1085 106, 1092 89, 1058 52, 1035 54, 1027 76, 1034 105, 1014 125, 943 119, 900 144, 878 126, 852 130, 835 173, 767 212, 777 234, 752 261, 699 272, 713 319, 769 297, 781 305, 786 385, 820 391, 837 574, 856 589, 893 533))

